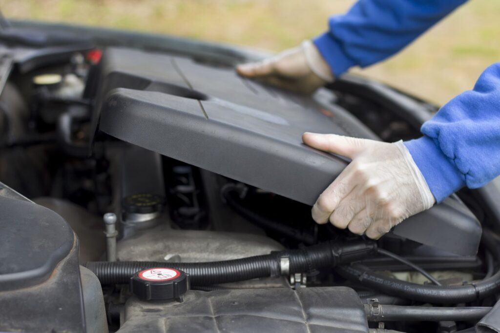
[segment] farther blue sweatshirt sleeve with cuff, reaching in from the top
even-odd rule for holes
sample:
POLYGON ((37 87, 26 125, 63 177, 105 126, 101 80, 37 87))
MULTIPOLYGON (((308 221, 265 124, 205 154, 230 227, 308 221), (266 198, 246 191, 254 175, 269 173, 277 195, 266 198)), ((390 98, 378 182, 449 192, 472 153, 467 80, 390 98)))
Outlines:
POLYGON ((335 76, 398 52, 466 0, 358 0, 313 39, 335 76))

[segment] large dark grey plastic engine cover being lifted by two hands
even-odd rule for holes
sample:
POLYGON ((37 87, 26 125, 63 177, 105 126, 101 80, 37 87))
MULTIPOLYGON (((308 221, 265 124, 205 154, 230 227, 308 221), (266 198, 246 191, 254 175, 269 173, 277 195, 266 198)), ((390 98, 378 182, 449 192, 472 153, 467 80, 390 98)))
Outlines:
MULTIPOLYGON (((100 65, 95 129, 305 204, 312 205, 349 160, 307 147, 302 133, 378 139, 326 89, 301 96, 239 77, 232 68, 130 49, 106 49, 100 65)), ((447 199, 429 212, 393 232, 475 255, 481 228, 461 203, 447 199)))

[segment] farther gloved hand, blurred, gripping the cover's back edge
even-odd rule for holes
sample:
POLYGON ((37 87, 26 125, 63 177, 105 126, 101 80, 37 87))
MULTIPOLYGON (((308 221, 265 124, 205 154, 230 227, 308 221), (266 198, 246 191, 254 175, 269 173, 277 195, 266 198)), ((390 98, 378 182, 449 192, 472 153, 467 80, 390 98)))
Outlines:
POLYGON ((333 81, 330 67, 310 40, 271 58, 238 65, 236 71, 241 76, 300 93, 311 93, 333 81))

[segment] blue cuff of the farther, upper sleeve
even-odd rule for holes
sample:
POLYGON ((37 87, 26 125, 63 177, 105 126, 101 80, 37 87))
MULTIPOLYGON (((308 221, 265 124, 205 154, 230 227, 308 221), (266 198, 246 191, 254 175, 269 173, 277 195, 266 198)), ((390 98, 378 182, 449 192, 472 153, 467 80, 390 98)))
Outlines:
POLYGON ((355 61, 345 54, 340 44, 328 32, 313 38, 312 41, 330 66, 334 77, 340 76, 347 69, 356 65, 355 61))

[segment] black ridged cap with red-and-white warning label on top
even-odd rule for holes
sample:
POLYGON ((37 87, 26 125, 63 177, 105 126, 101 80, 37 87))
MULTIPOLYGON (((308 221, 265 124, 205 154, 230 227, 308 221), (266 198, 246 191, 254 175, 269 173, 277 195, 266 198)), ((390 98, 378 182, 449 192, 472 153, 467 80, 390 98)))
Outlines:
POLYGON ((155 267, 135 273, 130 291, 140 300, 181 300, 189 289, 189 275, 168 267, 155 267))

